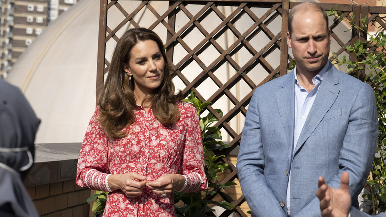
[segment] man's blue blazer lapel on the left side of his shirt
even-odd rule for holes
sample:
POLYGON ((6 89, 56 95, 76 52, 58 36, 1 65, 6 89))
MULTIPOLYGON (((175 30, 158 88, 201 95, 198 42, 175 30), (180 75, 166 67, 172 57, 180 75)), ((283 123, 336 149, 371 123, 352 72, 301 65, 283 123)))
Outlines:
POLYGON ((293 71, 280 85, 276 92, 276 100, 279 108, 280 119, 287 137, 288 160, 291 162, 293 152, 293 136, 295 124, 295 77, 293 71))

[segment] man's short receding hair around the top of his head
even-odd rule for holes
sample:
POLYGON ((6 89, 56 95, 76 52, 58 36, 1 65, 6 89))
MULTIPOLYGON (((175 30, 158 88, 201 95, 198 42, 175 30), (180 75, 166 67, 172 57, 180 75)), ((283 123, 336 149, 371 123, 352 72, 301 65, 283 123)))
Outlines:
POLYGON ((293 17, 298 12, 306 12, 306 11, 320 12, 320 14, 323 16, 323 19, 326 21, 326 27, 327 27, 327 31, 328 31, 328 29, 329 29, 329 19, 328 19, 326 11, 321 6, 319 6, 318 4, 305 2, 305 3, 301 3, 301 4, 293 7, 290 10, 290 13, 288 14, 287 24, 288 24, 288 32, 290 33, 290 35, 292 34, 293 17))

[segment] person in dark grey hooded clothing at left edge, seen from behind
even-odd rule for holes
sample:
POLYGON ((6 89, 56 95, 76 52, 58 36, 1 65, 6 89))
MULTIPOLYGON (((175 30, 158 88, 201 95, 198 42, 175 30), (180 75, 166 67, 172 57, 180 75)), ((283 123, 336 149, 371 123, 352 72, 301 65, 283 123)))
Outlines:
POLYGON ((40 120, 20 89, 0 79, 0 217, 38 217, 22 182, 40 120))

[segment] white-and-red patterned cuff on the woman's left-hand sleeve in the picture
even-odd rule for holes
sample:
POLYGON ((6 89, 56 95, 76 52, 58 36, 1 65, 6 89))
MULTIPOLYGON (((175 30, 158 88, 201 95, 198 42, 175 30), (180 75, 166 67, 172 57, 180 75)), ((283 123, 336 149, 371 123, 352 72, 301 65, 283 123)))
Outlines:
POLYGON ((88 188, 98 190, 98 191, 111 191, 108 187, 108 176, 103 172, 99 172, 96 169, 90 169, 86 173, 85 182, 88 188))

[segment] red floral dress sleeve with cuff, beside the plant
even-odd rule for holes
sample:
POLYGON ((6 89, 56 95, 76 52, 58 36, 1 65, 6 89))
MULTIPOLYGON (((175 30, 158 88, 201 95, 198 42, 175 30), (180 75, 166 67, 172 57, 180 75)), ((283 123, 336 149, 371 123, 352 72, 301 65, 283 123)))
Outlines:
POLYGON ((185 176, 185 185, 180 192, 198 192, 208 187, 208 180, 204 169, 201 127, 198 121, 197 110, 188 104, 186 111, 187 131, 181 166, 181 174, 185 176))

